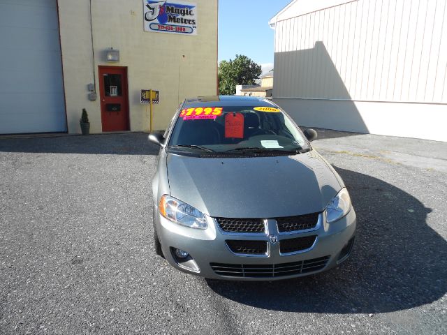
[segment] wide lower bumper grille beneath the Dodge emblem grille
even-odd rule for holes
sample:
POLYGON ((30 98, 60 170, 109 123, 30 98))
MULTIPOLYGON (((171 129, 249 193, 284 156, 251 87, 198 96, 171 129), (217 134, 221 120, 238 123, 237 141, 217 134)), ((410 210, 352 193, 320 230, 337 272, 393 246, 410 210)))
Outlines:
POLYGON ((253 264, 223 264, 210 263, 215 274, 226 277, 272 278, 306 274, 323 269, 328 264, 330 256, 301 260, 300 262, 253 265, 253 264))

